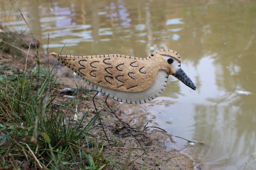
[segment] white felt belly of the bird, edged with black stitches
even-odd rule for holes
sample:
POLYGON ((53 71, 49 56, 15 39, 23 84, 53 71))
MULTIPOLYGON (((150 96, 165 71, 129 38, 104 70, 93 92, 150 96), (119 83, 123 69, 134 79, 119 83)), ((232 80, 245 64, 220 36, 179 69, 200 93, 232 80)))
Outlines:
POLYGON ((87 84, 97 89, 97 91, 105 94, 106 96, 114 100, 124 102, 124 103, 129 103, 129 104, 141 104, 141 103, 146 103, 150 100, 155 99, 161 92, 164 91, 167 84, 168 76, 169 75, 165 70, 158 70, 155 82, 148 89, 140 92, 122 92, 122 91, 108 89, 101 85, 92 83, 91 81, 81 76, 80 77, 83 78, 83 80, 87 84))

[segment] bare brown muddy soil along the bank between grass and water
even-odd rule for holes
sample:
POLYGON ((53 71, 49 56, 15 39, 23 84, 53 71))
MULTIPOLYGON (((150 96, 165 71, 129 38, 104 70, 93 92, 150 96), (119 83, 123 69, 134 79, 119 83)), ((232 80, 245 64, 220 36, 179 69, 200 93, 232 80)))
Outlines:
MULTIPOLYGON (((27 51, 28 49, 24 50, 27 51)), ((35 50, 30 50, 29 53, 31 55, 28 55, 27 67, 28 69, 33 69, 37 65, 36 57, 34 56, 35 50)), ((6 61, 9 62, 8 64, 11 65, 14 70, 23 70, 25 66, 26 56, 27 54, 24 54, 20 58, 16 57, 15 55, 2 53, 0 54, 0 64, 1 62, 6 61)), ((43 52, 40 52, 39 56, 41 57, 41 65, 48 65, 49 59, 51 68, 51 65, 55 62, 55 58, 53 56, 49 56, 48 58, 48 55, 43 52)), ((67 71, 66 67, 58 62, 53 72, 55 73, 55 75, 57 75, 58 73, 63 73, 67 71)), ((60 83, 63 83, 63 86, 60 87, 60 90, 61 88, 76 87, 74 79, 72 78, 59 78, 58 81, 60 83)), ((85 82, 79 81, 79 86, 81 85, 86 88, 90 88, 88 85, 86 85, 85 82)), ((65 94, 58 96, 54 102, 65 102, 68 97, 67 95, 69 94, 66 94, 66 96, 65 94)), ((95 99, 96 107, 98 108, 98 110, 102 110, 101 113, 104 113, 108 110, 106 104, 104 103, 105 97, 106 96, 104 95, 98 95, 95 99)), ((110 107, 119 104, 113 109, 113 111, 122 121, 127 123, 130 121, 131 116, 129 116, 128 108, 131 105, 125 104, 124 106, 122 106, 123 104, 120 104, 119 102, 116 102, 112 99, 108 99, 108 104, 110 107)), ((84 108, 86 108, 86 111, 89 109, 89 118, 93 117, 96 114, 92 103, 92 94, 84 98, 84 100, 79 101, 77 110, 84 110, 84 108)), ((82 117, 82 115, 83 112, 80 112, 76 119, 79 119, 80 117, 82 117)), ((110 147, 109 145, 106 145, 103 153, 108 152, 110 155, 112 155, 112 158, 115 159, 115 166, 117 169, 124 168, 125 166, 127 166, 127 169, 194 169, 194 161, 190 159, 187 155, 177 152, 177 149, 175 148, 173 148, 173 150, 169 152, 166 152, 164 150, 164 148, 166 148, 165 142, 173 143, 173 141, 171 135, 166 134, 160 129, 146 129, 145 127, 136 127, 137 125, 132 124, 133 122, 129 123, 130 127, 137 128, 134 129, 132 133, 140 141, 141 146, 146 146, 144 147, 144 150, 146 152, 144 152, 144 150, 141 148, 140 144, 135 140, 135 138, 132 137, 126 129, 120 128, 122 127, 122 124, 116 119, 115 115, 113 115, 111 112, 108 112, 107 114, 102 116, 102 119, 107 136, 110 136, 108 137, 109 140, 115 141, 115 144, 118 143, 116 147, 110 147)), ((99 135, 104 135, 102 128, 100 128, 100 130, 96 131, 95 133, 99 135)), ((102 141, 102 143, 104 142, 105 141, 102 141)), ((108 155, 105 156, 108 157, 108 155)), ((106 167, 106 169, 116 168, 106 167)))

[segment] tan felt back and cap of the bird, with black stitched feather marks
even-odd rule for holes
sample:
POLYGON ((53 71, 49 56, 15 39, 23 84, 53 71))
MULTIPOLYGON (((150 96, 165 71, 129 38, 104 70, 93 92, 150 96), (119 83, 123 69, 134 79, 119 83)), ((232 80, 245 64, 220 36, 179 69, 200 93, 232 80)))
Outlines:
POLYGON ((180 55, 172 50, 158 50, 147 58, 119 54, 73 56, 51 53, 81 77, 123 92, 148 89, 154 83, 158 70, 174 74, 170 64, 160 54, 172 56, 181 62, 180 55))

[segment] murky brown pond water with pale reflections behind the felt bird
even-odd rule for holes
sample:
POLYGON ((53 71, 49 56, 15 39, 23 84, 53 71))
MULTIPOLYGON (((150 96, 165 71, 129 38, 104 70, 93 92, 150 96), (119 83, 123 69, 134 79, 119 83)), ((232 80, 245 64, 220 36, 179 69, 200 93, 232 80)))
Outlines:
POLYGON ((182 152, 207 169, 256 168, 256 1, 22 0, 2 4, 4 23, 17 31, 27 29, 19 7, 43 49, 49 33, 50 52, 60 52, 65 43, 62 53, 72 55, 147 57, 163 48, 178 51, 181 67, 196 91, 170 76, 162 97, 153 104, 129 106, 143 107, 145 113, 140 114, 146 114, 147 121, 173 135, 203 142, 182 152))

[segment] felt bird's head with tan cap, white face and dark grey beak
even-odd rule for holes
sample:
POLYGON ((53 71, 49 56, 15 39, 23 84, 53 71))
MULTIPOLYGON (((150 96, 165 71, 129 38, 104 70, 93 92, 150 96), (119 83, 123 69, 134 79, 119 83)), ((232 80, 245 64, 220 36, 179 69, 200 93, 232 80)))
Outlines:
POLYGON ((168 64, 170 64, 171 68, 169 74, 178 78, 182 83, 187 85, 193 90, 196 90, 196 85, 190 80, 190 78, 185 74, 185 72, 181 69, 180 63, 181 58, 178 52, 173 50, 158 50, 156 53, 160 54, 168 64))

